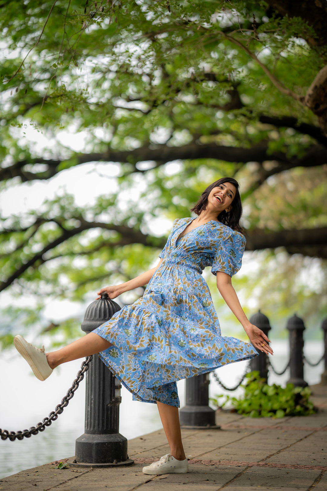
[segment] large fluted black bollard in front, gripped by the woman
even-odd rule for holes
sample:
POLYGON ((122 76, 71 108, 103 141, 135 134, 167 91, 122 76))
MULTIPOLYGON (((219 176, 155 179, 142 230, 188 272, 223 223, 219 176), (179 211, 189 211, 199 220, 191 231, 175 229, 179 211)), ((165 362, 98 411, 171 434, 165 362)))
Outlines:
MULTIPOLYGON (((86 309, 82 330, 91 332, 108 321, 120 306, 102 293, 86 309)), ((76 439, 73 465, 113 467, 130 465, 127 438, 119 433, 119 405, 121 384, 94 355, 86 372, 85 432, 76 439)))

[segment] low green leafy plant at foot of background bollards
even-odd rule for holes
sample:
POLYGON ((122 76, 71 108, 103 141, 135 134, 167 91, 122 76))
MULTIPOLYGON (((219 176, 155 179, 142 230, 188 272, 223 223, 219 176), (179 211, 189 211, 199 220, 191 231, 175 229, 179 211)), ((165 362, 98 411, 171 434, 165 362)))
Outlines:
POLYGON ((241 399, 219 395, 211 401, 219 408, 229 401, 238 414, 247 414, 252 418, 307 416, 317 411, 309 400, 309 387, 294 387, 293 383, 288 383, 285 388, 275 383, 268 385, 265 379, 260 378, 259 372, 248 373, 242 387, 245 393, 241 399), (220 397, 226 397, 222 404, 218 400, 220 397))

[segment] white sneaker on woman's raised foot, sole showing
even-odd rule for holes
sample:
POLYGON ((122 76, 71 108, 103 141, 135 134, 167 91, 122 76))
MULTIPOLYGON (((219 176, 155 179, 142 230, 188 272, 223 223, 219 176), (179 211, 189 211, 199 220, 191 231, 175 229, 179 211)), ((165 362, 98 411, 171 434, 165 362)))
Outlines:
POLYGON ((35 377, 44 381, 51 375, 53 370, 49 366, 44 346, 41 349, 36 348, 20 335, 14 337, 14 345, 33 370, 35 377))

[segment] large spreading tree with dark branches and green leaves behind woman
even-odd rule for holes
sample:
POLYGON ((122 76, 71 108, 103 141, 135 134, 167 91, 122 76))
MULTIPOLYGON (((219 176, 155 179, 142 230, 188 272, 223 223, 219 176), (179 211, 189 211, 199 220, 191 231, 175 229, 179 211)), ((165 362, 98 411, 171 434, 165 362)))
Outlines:
POLYGON ((223 175, 242 183, 248 250, 326 257, 324 4, 57 0, 0 9, 2 188, 90 162, 117 163, 118 174, 115 192, 88 210, 59 196, 42 211, 3 217, 1 290, 80 299, 109 276, 138 273, 165 243, 151 219, 187 215, 223 175), (52 147, 35 150, 24 137, 31 127, 52 147), (83 151, 60 143, 73 127, 85 134, 83 151), (126 200, 135 186, 138 199, 126 200))

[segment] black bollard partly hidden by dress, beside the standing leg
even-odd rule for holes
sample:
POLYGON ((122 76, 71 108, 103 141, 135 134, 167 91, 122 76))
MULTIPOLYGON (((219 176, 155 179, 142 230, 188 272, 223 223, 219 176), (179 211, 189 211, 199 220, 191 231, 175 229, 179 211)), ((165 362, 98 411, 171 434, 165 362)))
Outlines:
POLYGON ((209 374, 186 379, 186 406, 179 411, 183 428, 220 428, 216 425, 216 411, 209 407, 209 374))

